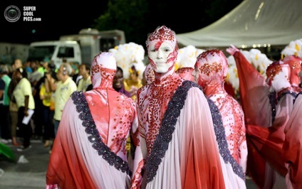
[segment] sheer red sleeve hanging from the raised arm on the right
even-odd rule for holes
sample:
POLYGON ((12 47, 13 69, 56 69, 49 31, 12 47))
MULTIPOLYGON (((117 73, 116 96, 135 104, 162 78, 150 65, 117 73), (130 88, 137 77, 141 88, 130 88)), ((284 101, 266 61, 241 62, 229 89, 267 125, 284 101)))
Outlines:
POLYGON ((244 55, 234 53, 238 77, 241 107, 244 109, 246 124, 271 126, 269 85, 244 55))

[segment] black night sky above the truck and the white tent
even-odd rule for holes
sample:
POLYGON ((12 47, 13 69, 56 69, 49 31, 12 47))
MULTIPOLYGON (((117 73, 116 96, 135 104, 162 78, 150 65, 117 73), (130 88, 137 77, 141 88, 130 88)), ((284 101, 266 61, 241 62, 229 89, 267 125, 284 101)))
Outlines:
MULTIPOLYGON (((157 26, 165 25, 176 33, 187 33, 208 26, 234 9, 241 1, 147 1, 148 16, 144 26, 146 33, 142 35, 144 36, 142 41, 147 38, 147 31, 152 32, 157 26)), ((0 42, 29 44, 33 41, 58 40, 59 36, 76 34, 82 28, 92 27, 95 19, 103 15, 107 9, 108 0, 80 0, 79 2, 2 0, 0 1, 0 42), (21 11, 21 18, 14 23, 6 21, 4 17, 6 7, 11 5, 17 6, 21 11), (41 21, 23 21, 24 6, 36 6, 33 17, 41 18, 41 21)), ((130 42, 127 41, 127 36, 126 42, 130 42)))

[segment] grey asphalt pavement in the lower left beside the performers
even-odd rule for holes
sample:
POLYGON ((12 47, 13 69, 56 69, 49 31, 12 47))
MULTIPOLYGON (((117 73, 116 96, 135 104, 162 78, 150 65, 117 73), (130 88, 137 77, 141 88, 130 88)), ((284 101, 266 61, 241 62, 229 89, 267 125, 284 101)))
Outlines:
MULTIPOLYGON (((42 141, 39 140, 31 140, 31 148, 28 151, 17 151, 17 147, 12 144, 6 146, 14 151, 17 161, 14 163, 0 158, 0 188, 45 188, 49 148, 44 148, 42 141)), ((257 189, 253 180, 246 180, 246 188, 257 189)))

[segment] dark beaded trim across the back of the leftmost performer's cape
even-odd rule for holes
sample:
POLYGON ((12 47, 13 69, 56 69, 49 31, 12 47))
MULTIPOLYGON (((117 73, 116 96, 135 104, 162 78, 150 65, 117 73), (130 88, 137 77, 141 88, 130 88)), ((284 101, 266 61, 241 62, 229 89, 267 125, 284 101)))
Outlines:
POLYGON ((98 129, 95 126, 95 122, 93 121, 93 116, 91 115, 84 93, 81 91, 75 91, 71 95, 71 98, 73 99, 73 104, 75 104, 76 111, 79 113, 78 117, 83 121, 82 125, 85 127, 85 132, 88 134, 88 140, 92 144, 93 148, 98 151, 98 155, 103 156, 110 166, 114 166, 123 173, 126 172, 128 175, 132 175, 132 171, 130 170, 128 163, 123 161, 120 156, 117 156, 106 144, 103 143, 102 138, 98 133, 98 129))

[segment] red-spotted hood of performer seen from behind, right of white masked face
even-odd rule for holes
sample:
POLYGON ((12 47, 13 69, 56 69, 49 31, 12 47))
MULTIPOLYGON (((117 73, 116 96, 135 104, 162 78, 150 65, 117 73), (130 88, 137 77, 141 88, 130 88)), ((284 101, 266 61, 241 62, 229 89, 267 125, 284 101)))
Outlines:
POLYGON ((206 50, 197 57, 195 68, 199 69, 200 86, 205 87, 211 82, 221 83, 227 77, 227 58, 222 50, 206 50))

